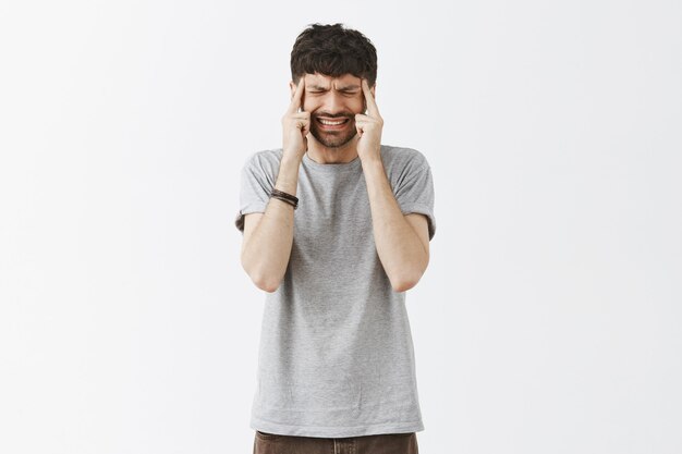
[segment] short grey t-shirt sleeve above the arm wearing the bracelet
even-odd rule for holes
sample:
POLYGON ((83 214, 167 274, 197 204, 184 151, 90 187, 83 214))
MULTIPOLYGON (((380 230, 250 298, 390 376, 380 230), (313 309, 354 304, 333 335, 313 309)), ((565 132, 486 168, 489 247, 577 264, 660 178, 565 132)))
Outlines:
POLYGON ((272 191, 272 175, 267 172, 259 154, 246 159, 241 173, 240 210, 234 225, 244 232, 244 216, 252 212, 265 212, 272 191))

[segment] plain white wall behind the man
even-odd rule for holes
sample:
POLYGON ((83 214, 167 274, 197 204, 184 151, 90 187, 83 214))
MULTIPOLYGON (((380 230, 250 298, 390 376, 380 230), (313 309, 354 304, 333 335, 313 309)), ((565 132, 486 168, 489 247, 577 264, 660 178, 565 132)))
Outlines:
POLYGON ((313 22, 434 170, 422 452, 682 452, 681 3, 2 3, 0 452, 251 452, 239 171, 313 22))

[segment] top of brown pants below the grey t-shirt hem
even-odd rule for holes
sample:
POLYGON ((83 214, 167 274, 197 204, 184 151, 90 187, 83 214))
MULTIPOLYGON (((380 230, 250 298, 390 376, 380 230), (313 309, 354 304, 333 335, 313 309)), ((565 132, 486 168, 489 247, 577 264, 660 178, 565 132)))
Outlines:
POLYGON ((418 452, 415 432, 325 439, 256 431, 254 440, 254 454, 418 454, 418 452))

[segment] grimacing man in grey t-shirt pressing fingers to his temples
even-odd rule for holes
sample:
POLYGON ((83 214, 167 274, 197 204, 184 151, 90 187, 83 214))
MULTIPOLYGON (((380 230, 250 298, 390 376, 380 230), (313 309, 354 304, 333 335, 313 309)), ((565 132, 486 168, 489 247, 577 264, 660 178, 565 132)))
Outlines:
POLYGON ((424 156, 381 145, 377 56, 342 24, 291 52, 282 148, 242 171, 242 266, 267 292, 255 453, 416 453, 424 429, 405 291, 426 270, 424 156))

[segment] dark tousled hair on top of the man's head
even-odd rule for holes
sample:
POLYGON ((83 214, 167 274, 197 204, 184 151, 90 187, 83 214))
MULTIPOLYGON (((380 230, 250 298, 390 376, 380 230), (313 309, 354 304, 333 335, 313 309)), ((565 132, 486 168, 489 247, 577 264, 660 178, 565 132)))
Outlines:
POLYGON ((330 77, 352 74, 377 81, 377 50, 362 33, 343 24, 310 24, 299 35, 291 50, 291 78, 295 84, 305 74, 330 77))

